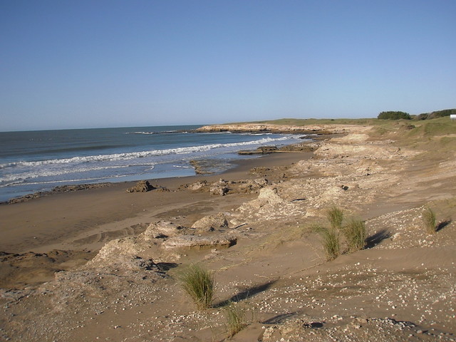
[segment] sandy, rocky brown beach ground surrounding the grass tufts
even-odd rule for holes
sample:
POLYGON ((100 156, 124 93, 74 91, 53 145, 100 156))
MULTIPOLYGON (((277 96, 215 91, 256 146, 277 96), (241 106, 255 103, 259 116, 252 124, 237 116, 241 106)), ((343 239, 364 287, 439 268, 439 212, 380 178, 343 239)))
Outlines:
POLYGON ((0 341, 224 341, 229 302, 248 323, 232 341, 456 341, 455 155, 344 129, 311 159, 152 182, 170 191, 125 183, 1 205, 0 341), (366 220, 369 244, 327 262, 311 226, 332 204, 366 220), (214 214, 228 226, 192 228, 214 214), (228 237, 229 248, 175 247, 228 237), (176 280, 195 261, 216 272, 207 311, 176 280))

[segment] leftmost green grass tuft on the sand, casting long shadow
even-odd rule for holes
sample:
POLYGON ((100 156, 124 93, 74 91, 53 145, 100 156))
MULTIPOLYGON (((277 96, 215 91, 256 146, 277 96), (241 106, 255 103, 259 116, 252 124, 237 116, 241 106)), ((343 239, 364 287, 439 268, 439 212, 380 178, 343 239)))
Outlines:
POLYGON ((179 280, 182 289, 195 301, 198 309, 209 309, 212 306, 215 292, 215 276, 212 271, 192 264, 180 275, 179 280))

